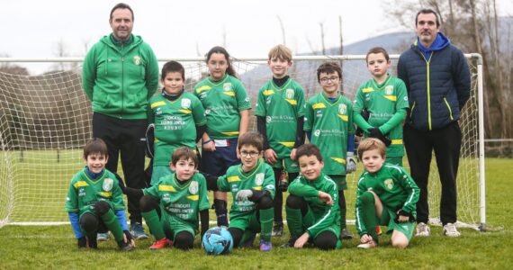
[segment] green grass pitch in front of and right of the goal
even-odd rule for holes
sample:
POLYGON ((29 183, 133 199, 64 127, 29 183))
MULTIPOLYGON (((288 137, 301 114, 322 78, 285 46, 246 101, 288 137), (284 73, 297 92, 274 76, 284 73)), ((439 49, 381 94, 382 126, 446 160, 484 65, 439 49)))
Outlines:
MULTIPOLYGON (((341 250, 329 252, 315 248, 280 248, 287 240, 284 237, 273 238, 275 247, 269 253, 262 253, 257 247, 234 250, 226 257, 205 256, 200 248, 187 252, 175 248, 150 251, 148 247, 152 240, 148 239, 139 241, 137 250, 125 254, 117 250, 112 239, 100 243, 99 250, 78 250, 69 225, 4 226, 0 229, 0 269, 509 269, 513 267, 513 212, 509 206, 511 175, 513 159, 486 160, 490 231, 461 229, 462 237, 446 238, 441 236, 440 227, 432 227, 431 237, 413 238, 405 250, 390 247, 390 238, 386 236, 381 238, 380 247, 373 250, 359 250, 356 248, 358 240, 354 238, 345 241, 341 250)), ((356 232, 354 226, 349 228, 356 232)), ((199 246, 196 239, 196 247, 199 246)))

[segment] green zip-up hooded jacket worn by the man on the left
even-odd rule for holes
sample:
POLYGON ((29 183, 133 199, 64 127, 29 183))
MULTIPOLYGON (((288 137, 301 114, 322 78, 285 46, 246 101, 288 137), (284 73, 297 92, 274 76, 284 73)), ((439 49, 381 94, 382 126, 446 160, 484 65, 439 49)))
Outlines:
POLYGON ((158 63, 139 36, 120 42, 104 36, 87 52, 82 86, 93 112, 119 119, 146 119, 149 98, 158 87, 158 63))

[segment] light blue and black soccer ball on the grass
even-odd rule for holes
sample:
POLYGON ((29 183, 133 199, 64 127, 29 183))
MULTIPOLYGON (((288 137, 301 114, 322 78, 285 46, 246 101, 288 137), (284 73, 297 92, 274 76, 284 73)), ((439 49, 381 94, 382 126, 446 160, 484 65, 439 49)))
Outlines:
POLYGON ((229 254, 233 248, 233 238, 226 227, 214 227, 203 235, 202 247, 208 255, 229 254))

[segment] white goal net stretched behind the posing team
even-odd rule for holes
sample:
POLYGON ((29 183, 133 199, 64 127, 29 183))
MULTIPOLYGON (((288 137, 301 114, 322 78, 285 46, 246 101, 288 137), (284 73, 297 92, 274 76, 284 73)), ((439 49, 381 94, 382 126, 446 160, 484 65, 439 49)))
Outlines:
MULTIPOLYGON (((395 76, 397 55, 389 71, 395 76)), ((316 69, 331 59, 343 67, 343 92, 354 100, 358 86, 370 79, 365 55, 302 56, 294 58, 291 77, 304 88, 306 98, 321 91, 316 69)), ((162 66, 166 59, 160 59, 162 66)), ((202 58, 178 59, 185 67, 186 90, 208 76, 202 58)), ((477 228, 484 224, 481 205, 477 61, 468 56, 473 71, 471 99, 460 120, 462 156, 457 177, 458 220, 477 228)), ((255 106, 258 88, 272 77, 266 58, 234 58, 238 76, 255 106)), ((67 222, 64 211, 69 181, 80 168, 82 148, 92 136, 91 103, 81 86, 81 69, 40 76, 0 73, 0 227, 5 224, 59 224, 67 222)), ((251 112, 253 113, 253 112, 251 112)), ((257 130, 251 117, 250 129, 257 130)), ((433 158, 434 160, 435 158, 433 158)), ((407 158, 404 165, 408 168, 407 158)), ((121 168, 119 170, 121 172, 121 168)), ((348 175, 347 220, 354 220, 356 181, 362 172, 348 175)), ((440 182, 433 161, 429 179, 429 208, 433 221, 439 216, 440 182)))

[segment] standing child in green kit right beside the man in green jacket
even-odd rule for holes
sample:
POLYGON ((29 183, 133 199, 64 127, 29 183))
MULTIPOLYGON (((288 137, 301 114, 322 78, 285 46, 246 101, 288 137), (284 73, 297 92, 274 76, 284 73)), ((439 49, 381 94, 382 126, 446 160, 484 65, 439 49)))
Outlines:
POLYGON ((176 148, 196 148, 207 122, 200 100, 184 91, 185 70, 180 63, 167 62, 160 83, 161 93, 148 103, 148 123, 155 128, 153 141, 147 141, 154 149, 151 185, 171 174, 169 163, 176 148))

